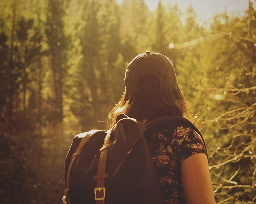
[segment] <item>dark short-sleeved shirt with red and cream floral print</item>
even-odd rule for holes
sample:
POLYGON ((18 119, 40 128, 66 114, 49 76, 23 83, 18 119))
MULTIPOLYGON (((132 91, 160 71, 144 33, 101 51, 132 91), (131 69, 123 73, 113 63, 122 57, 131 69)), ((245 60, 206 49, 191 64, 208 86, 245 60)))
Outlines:
POLYGON ((166 204, 185 204, 181 163, 192 154, 207 154, 200 135, 187 125, 169 126, 145 135, 166 204))

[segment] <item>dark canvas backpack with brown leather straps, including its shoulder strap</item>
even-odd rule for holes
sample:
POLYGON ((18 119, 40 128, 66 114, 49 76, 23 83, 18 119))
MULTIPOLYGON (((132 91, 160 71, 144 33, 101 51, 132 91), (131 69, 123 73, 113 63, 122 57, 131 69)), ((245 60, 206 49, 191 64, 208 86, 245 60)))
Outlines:
POLYGON ((125 114, 118 115, 116 124, 108 131, 76 135, 65 160, 63 204, 163 203, 143 133, 170 124, 186 124, 202 138, 198 129, 183 117, 160 117, 144 125, 125 114))

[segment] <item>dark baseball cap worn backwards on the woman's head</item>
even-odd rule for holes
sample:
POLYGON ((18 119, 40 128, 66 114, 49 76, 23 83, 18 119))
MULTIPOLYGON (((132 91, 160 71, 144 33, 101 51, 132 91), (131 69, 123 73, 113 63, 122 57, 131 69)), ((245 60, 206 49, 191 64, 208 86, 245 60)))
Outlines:
POLYGON ((168 57, 146 51, 133 58, 125 72, 128 93, 154 93, 178 86, 175 69, 168 57))

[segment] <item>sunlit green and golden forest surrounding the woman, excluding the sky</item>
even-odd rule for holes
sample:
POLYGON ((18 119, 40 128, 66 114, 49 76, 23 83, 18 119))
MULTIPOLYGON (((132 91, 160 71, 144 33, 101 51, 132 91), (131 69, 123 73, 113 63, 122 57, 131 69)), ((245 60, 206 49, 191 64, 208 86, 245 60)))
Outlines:
POLYGON ((256 1, 198 21, 192 5, 0 0, 0 203, 60 204, 73 137, 107 129, 128 63, 170 58, 208 147, 217 204, 256 203, 256 1))

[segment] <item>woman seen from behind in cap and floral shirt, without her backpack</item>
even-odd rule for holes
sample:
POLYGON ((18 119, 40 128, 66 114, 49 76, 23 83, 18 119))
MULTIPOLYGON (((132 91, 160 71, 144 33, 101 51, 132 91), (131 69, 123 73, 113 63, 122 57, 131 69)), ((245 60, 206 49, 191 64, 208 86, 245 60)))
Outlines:
MULTIPOLYGON (((188 117, 188 103, 169 58, 146 51, 125 73, 125 92, 109 114, 113 126, 120 113, 146 123, 157 117, 188 117)), ((215 203, 208 155, 200 135, 187 125, 167 125, 145 135, 165 203, 215 203)))

